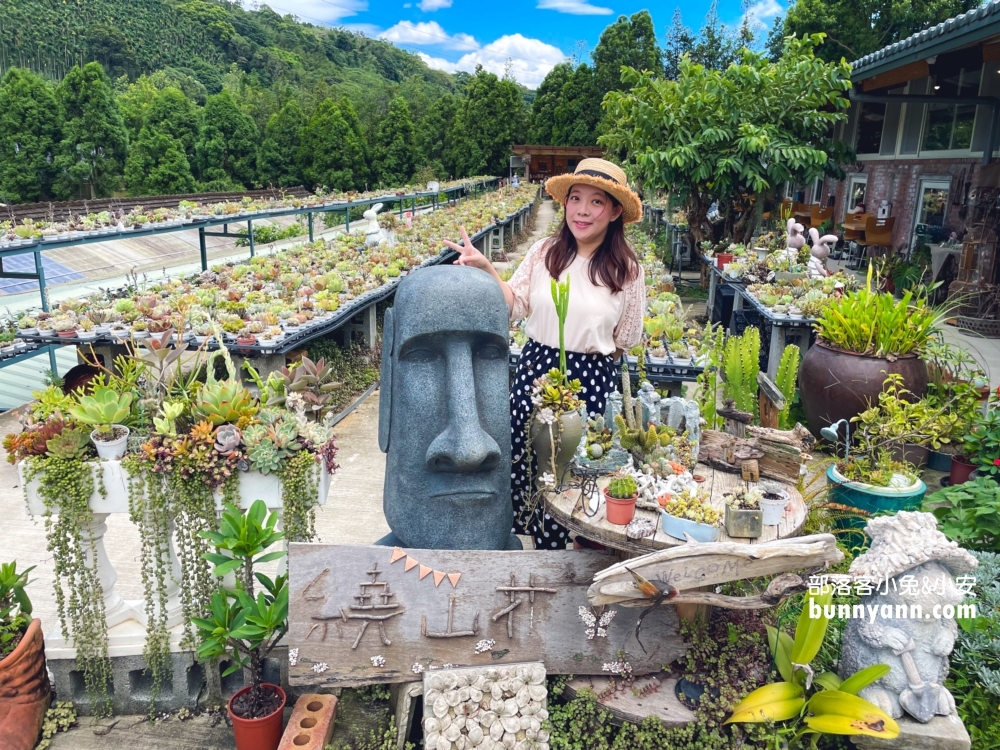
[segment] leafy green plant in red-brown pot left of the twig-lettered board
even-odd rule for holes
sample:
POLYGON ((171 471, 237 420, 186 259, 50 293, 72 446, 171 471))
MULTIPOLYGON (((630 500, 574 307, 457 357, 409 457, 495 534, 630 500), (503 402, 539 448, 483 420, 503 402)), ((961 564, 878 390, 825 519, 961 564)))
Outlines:
POLYGON ((199 659, 213 663, 228 657, 233 664, 223 676, 242 669, 248 683, 227 706, 237 750, 275 750, 281 741, 285 693, 262 678, 264 660, 288 630, 288 576, 272 580, 254 572, 255 565, 285 555, 267 551, 284 538, 275 529, 277 521, 262 500, 255 500, 246 513, 226 503, 219 530, 201 532, 215 547, 205 555, 215 564, 215 575, 236 575, 233 588, 220 587, 212 595, 210 617, 192 622, 202 638, 199 659), (255 581, 263 591, 256 591, 255 581))

